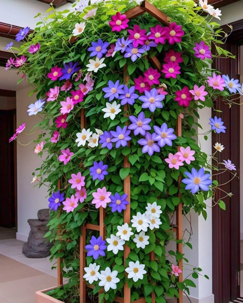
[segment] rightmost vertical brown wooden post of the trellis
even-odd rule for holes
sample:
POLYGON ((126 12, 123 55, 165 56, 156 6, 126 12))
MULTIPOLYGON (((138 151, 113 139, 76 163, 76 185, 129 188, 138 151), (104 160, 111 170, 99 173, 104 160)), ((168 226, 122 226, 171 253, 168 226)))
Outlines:
MULTIPOLYGON (((182 136, 182 129, 181 129, 181 117, 178 116, 176 122, 176 136, 182 136)), ((180 151, 180 146, 177 148, 180 151)), ((181 182, 181 175, 178 177, 178 188, 180 189, 180 182, 181 182)), ((178 193, 178 197, 181 198, 180 192, 178 193)), ((178 209, 176 211, 176 240, 182 240, 182 202, 179 203, 178 209)), ((179 251, 181 254, 183 253, 183 246, 182 242, 176 244, 176 250, 179 251)), ((180 259, 178 264, 180 270, 183 270, 183 259, 180 259)), ((179 274, 179 282, 183 282, 183 273, 179 274)), ((183 291, 179 289, 179 298, 177 299, 178 303, 183 303, 183 291)))

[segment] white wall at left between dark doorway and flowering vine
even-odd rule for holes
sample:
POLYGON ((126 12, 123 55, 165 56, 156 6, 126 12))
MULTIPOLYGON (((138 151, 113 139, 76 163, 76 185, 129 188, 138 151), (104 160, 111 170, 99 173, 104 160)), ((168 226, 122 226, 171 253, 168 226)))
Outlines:
MULTIPOLYGON (((40 118, 38 116, 29 116, 26 112, 30 103, 36 101, 33 94, 28 97, 30 88, 21 89, 16 92, 16 113, 17 126, 23 122, 26 123, 26 134, 30 133, 30 129, 36 125, 40 118)), ((38 130, 35 128, 33 131, 38 130)), ((38 131, 38 134, 40 130, 38 131)), ((27 144, 37 138, 37 134, 25 135, 21 133, 18 137, 19 142, 27 144)), ((18 205, 18 232, 16 238, 27 241, 29 235, 28 219, 37 218, 37 211, 42 208, 48 208, 47 187, 33 187, 36 183, 30 184, 33 179, 32 173, 36 168, 40 167, 43 158, 34 153, 33 148, 36 146, 34 142, 27 146, 17 144, 17 205, 18 205)))

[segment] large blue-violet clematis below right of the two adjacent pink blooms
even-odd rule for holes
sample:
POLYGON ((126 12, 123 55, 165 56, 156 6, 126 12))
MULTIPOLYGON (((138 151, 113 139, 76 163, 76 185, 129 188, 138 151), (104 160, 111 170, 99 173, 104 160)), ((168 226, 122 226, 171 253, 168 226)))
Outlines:
POLYGON ((195 168, 192 169, 192 172, 185 171, 185 175, 188 177, 183 179, 182 182, 187 184, 186 189, 190 189, 192 194, 195 194, 201 188, 203 191, 209 191, 208 185, 212 184, 212 180, 210 174, 204 175, 204 168, 200 168, 197 171, 195 168))

